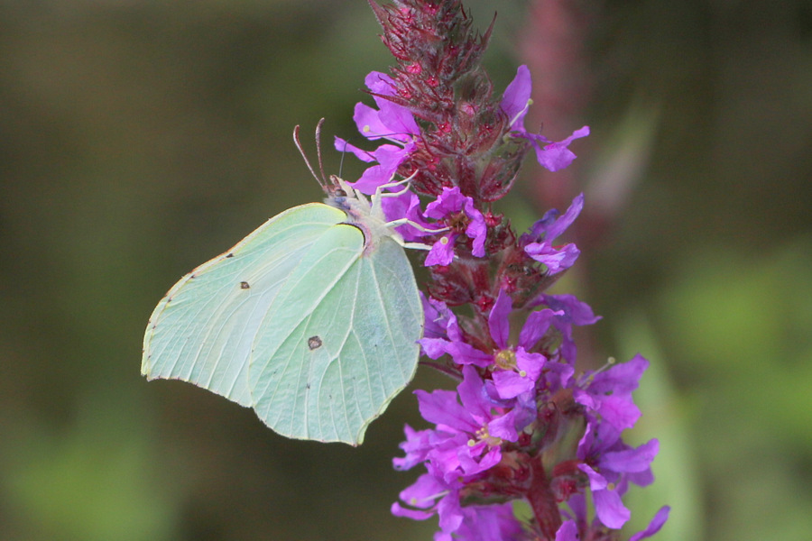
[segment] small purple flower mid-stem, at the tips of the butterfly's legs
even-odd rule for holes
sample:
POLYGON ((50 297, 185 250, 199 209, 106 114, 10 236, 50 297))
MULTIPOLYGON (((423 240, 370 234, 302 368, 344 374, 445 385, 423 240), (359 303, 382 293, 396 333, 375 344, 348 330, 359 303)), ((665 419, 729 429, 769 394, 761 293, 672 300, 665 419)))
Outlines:
MULTIPOLYGON (((474 239, 474 248, 471 251, 476 257, 484 256, 484 242, 488 234, 487 226, 484 223, 484 216, 474 207, 474 199, 462 195, 459 188, 443 188, 443 193, 436 200, 426 206, 423 214, 427 218, 435 220, 455 221, 461 214, 467 220, 466 235, 474 239)), ((454 242, 459 234, 452 229, 448 234, 443 235, 431 247, 425 265, 448 265, 454 259, 454 242)))

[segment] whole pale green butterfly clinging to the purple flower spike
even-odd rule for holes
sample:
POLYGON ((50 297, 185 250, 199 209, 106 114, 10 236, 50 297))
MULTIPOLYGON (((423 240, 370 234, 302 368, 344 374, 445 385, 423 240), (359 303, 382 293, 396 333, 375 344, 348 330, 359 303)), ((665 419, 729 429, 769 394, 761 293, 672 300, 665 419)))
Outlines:
POLYGON ((364 441, 414 376, 423 308, 387 194, 324 187, 327 205, 272 217, 169 290, 143 338, 147 379, 254 408, 282 436, 364 441))

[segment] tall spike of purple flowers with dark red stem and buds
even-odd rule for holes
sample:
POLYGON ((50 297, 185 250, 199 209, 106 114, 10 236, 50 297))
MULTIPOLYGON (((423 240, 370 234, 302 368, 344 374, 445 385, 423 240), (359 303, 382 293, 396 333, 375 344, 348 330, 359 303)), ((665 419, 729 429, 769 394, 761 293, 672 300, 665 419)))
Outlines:
MULTIPOLYGON (((437 517, 437 540, 618 539, 630 517, 623 494, 653 481, 658 452, 657 440, 632 447, 622 438, 641 415, 632 391, 648 362, 638 355, 577 375, 573 329, 599 318, 547 288, 577 261, 577 246, 557 239, 583 195, 521 235, 491 206, 529 151, 548 170, 566 168, 576 158, 570 143, 589 128, 560 142, 528 131, 530 71, 521 66, 494 97, 479 64, 490 31, 473 34, 458 0, 371 5, 398 62, 392 75, 367 76, 376 106, 355 107, 358 130, 378 146, 337 138, 336 148, 370 164, 351 183, 364 193, 410 179, 382 204, 403 238, 426 248, 424 364, 458 381, 456 390, 416 391, 432 427, 406 426, 394 466, 425 472, 392 513, 437 517), (517 500, 532 518, 517 518, 517 500)), ((631 540, 656 533, 668 512, 631 540)))

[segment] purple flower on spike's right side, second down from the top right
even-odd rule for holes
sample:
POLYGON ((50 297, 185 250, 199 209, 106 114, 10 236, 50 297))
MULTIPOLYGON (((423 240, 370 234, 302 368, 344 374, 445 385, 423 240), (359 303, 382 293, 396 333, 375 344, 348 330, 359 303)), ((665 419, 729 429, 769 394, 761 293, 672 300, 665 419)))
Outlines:
POLYGON ((553 241, 572 225, 584 207, 584 194, 578 195, 560 217, 557 210, 550 210, 530 230, 522 235, 524 252, 531 258, 547 266, 549 274, 558 274, 572 267, 580 251, 573 243, 562 247, 553 246, 553 241))

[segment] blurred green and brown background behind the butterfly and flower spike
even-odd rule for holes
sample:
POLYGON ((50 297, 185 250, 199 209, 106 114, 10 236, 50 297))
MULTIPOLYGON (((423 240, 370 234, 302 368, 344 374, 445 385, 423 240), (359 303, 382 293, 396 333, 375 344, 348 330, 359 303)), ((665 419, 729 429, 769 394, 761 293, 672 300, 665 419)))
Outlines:
MULTIPOLYGON (((582 124, 570 170, 528 164, 526 226, 586 191, 558 285, 604 316, 580 362, 651 359, 632 441, 660 438, 635 524, 659 539, 812 531, 812 5, 471 1, 498 11, 497 92, 582 124)), ((355 132, 388 52, 363 0, 0 3, 0 538, 425 540, 392 518, 411 393, 360 448, 291 442, 245 408, 139 374, 182 274, 321 197, 291 142, 355 132)), ((361 171, 335 152, 326 166, 361 171)), ((417 387, 445 384, 421 371, 417 387)))

